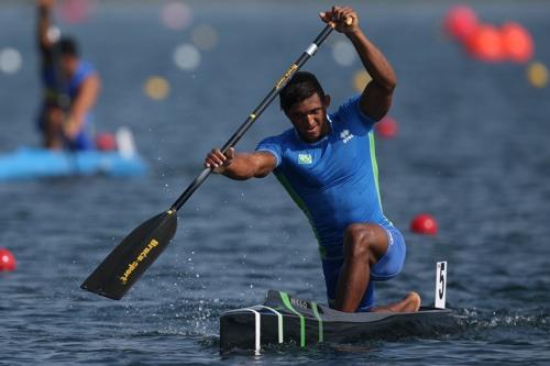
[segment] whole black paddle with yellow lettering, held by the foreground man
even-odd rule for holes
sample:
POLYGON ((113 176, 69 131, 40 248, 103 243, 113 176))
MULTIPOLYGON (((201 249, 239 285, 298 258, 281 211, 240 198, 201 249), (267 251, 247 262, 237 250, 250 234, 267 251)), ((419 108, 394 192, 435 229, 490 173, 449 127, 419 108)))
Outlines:
MULTIPOLYGON (((221 148, 222 153, 226 153, 241 140, 256 119, 271 104, 275 97, 278 96, 280 89, 288 82, 293 75, 314 56, 317 48, 331 32, 332 26, 327 25, 322 32, 319 33, 309 47, 275 84, 260 106, 256 107, 239 130, 237 130, 231 138, 223 145, 221 148)), ((169 210, 145 221, 132 231, 84 281, 80 288, 110 299, 120 300, 169 244, 172 237, 176 233, 177 211, 210 174, 210 168, 204 169, 182 196, 179 196, 169 210)))

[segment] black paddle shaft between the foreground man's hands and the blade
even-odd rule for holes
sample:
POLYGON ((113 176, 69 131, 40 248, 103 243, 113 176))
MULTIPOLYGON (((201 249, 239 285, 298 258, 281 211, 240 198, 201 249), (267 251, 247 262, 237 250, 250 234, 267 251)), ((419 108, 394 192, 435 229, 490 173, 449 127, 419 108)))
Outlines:
MULTIPOLYGON (((226 154, 230 147, 233 147, 239 140, 249 131, 249 129, 252 126, 252 124, 257 120, 257 118, 265 111, 265 109, 273 102, 273 100, 278 96, 280 90, 287 85, 287 82, 290 80, 293 75, 298 71, 305 64, 306 62, 311 58, 315 53, 317 52, 317 48, 327 40, 329 34, 332 32, 332 26, 327 25, 321 33, 315 38, 315 41, 309 45, 309 47, 304 51, 304 53, 300 55, 300 57, 288 68, 288 70, 280 77, 280 79, 275 84, 273 89, 270 91, 270 93, 262 100, 260 106, 256 107, 256 109, 250 113, 249 118, 246 121, 244 121, 243 124, 237 130, 237 132, 231 136, 231 138, 228 140, 228 142, 223 145, 221 148, 221 152, 226 154)), ((197 178, 187 187, 187 189, 179 196, 179 198, 174 202, 170 210, 177 211, 184 206, 185 202, 191 197, 191 195, 199 188, 199 186, 210 176, 212 170, 210 168, 205 168, 197 178)))

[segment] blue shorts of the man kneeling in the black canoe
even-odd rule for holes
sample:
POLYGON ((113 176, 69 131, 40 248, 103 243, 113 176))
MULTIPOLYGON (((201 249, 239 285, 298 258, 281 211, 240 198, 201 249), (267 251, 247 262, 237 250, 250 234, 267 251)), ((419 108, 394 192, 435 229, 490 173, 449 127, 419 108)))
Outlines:
MULTIPOLYGON (((394 226, 382 226, 387 233, 387 252, 371 268, 371 278, 363 299, 361 300, 359 311, 370 311, 374 307, 374 281, 384 281, 397 276, 405 263, 407 248, 402 233, 394 226)), ((343 267, 343 245, 338 247, 323 248, 326 256, 322 259, 322 271, 324 282, 327 284, 327 297, 329 304, 333 304, 337 298, 337 286, 340 270, 343 267)))

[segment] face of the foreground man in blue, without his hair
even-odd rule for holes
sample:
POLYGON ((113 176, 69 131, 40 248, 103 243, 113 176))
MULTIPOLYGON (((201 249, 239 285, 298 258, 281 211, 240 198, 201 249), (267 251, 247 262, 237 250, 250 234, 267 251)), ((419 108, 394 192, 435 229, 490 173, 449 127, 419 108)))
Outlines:
POLYGON ((327 121, 327 108, 329 104, 329 96, 324 96, 323 100, 321 100, 319 95, 315 93, 301 102, 294 104, 286 112, 286 115, 305 142, 317 142, 329 133, 330 127, 327 121))

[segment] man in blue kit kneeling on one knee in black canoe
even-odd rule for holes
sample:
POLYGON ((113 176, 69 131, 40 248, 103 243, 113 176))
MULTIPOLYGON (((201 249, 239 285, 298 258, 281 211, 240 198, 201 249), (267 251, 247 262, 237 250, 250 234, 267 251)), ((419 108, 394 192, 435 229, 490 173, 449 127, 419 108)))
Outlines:
POLYGON ((384 307, 374 303, 373 281, 397 276, 406 253, 403 235, 382 211, 372 131, 392 104, 396 77, 353 9, 333 7, 320 18, 346 35, 372 76, 361 96, 327 113, 330 97, 317 78, 296 73, 279 95, 293 129, 263 140, 253 153, 212 149, 205 166, 232 179, 275 174, 314 228, 332 308, 418 311, 416 292, 384 307))

